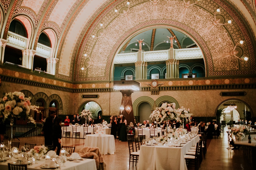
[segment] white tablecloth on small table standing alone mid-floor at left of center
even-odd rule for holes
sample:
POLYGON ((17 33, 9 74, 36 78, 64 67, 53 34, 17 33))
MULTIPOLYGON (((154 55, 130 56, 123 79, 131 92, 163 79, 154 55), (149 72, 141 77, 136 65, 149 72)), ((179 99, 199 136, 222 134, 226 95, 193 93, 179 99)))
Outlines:
POLYGON ((115 138, 113 135, 86 135, 85 147, 98 147, 102 155, 115 154, 115 138))

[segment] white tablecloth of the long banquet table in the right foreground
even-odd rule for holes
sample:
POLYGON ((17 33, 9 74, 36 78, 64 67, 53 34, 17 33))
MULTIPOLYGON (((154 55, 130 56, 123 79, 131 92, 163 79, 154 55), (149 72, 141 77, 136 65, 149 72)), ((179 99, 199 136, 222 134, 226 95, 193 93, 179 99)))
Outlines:
POLYGON ((182 147, 168 147, 167 145, 142 145, 138 161, 138 170, 187 170, 184 155, 199 141, 199 135, 182 147))

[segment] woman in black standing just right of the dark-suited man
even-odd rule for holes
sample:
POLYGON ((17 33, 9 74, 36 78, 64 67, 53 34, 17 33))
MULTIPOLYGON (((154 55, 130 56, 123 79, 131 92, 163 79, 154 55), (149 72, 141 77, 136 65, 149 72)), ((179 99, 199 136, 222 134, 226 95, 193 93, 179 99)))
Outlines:
POLYGON ((57 117, 55 120, 55 124, 53 125, 53 150, 56 149, 57 147, 57 151, 56 154, 59 155, 60 154, 60 150, 61 150, 61 134, 62 134, 62 130, 61 130, 61 118, 57 117))

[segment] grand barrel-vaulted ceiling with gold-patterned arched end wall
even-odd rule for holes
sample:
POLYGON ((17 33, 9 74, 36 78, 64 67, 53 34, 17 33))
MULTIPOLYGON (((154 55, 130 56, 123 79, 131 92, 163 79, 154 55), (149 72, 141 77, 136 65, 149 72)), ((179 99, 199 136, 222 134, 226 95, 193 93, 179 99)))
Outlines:
MULTIPOLYGON (((2 0, 0 3, 9 15, 4 26, 21 14, 33 20, 36 29, 32 48, 36 48, 42 30, 50 28, 56 32, 54 57, 59 58, 56 77, 60 79, 111 80, 114 56, 134 36, 154 28, 177 30, 193 40, 204 55, 207 76, 255 74, 254 0, 190 0, 190 4, 187 0, 152 1, 130 0, 129 10, 123 0, 2 0), (217 8, 220 12, 215 17, 217 8), (227 24, 228 20, 232 23, 227 24), (244 43, 236 46, 240 40, 244 43), (239 59, 242 56, 249 60, 239 59), (81 70, 82 67, 88 68, 81 70)), ((8 29, 4 26, 3 38, 8 29)))

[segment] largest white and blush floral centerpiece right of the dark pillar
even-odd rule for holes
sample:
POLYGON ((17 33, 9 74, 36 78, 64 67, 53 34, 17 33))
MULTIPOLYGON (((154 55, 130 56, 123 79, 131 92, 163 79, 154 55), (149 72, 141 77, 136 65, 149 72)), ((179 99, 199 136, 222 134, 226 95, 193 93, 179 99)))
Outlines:
POLYGON ((168 119, 179 119, 176 114, 175 103, 163 103, 161 107, 156 107, 156 110, 150 115, 152 121, 162 123, 168 119))

